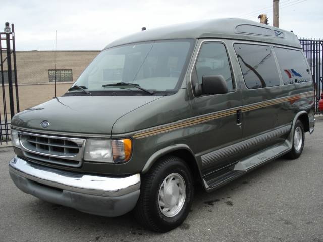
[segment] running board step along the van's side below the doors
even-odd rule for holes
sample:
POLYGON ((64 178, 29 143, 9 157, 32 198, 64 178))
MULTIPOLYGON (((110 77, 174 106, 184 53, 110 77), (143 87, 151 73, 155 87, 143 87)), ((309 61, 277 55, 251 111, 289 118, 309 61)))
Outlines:
POLYGON ((288 142, 283 142, 279 145, 272 146, 268 149, 262 150, 244 160, 238 161, 235 165, 225 168, 216 173, 212 173, 203 177, 204 186, 207 192, 213 191, 230 181, 246 174, 247 172, 259 167, 266 162, 272 161, 290 150, 288 142))

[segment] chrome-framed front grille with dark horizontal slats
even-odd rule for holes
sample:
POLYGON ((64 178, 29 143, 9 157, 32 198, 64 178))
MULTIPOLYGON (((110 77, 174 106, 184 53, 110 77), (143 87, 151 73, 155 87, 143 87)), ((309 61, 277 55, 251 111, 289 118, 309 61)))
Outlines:
POLYGON ((81 166, 84 139, 19 132, 26 158, 37 162, 81 166))

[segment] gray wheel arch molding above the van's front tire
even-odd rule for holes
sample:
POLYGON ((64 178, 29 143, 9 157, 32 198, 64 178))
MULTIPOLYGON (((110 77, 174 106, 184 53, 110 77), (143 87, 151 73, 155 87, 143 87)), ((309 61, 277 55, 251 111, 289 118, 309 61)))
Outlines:
POLYGON ((160 158, 161 156, 163 156, 163 155, 165 155, 167 153, 170 153, 172 151, 181 150, 181 149, 189 151, 192 154, 192 156, 194 157, 195 162, 196 162, 196 164, 198 166, 198 163, 196 161, 194 152, 191 150, 191 148, 188 145, 186 145, 186 144, 175 144, 175 145, 167 146, 167 147, 165 147, 163 149, 160 149, 157 152, 155 152, 152 156, 150 156, 150 158, 146 162, 145 166, 143 167, 141 173, 142 174, 147 173, 148 170, 151 168, 151 166, 155 163, 155 161, 158 158, 160 158))

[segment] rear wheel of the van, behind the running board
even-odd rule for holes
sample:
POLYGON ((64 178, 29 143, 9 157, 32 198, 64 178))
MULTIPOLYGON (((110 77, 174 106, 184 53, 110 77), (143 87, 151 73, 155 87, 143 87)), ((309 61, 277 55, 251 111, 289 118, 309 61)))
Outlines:
POLYGON ((293 145, 292 149, 286 156, 290 159, 297 159, 303 152, 305 143, 304 126, 300 120, 297 120, 294 127, 293 133, 293 145))

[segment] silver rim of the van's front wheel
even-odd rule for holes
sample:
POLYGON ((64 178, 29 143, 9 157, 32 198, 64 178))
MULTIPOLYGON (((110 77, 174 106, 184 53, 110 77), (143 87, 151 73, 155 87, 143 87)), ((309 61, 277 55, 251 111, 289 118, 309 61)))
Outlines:
POLYGON ((184 206, 186 186, 183 177, 178 173, 168 175, 159 188, 158 205, 166 217, 176 216, 184 206))

